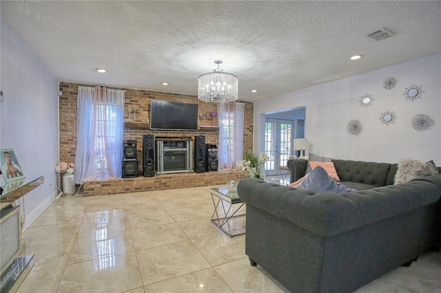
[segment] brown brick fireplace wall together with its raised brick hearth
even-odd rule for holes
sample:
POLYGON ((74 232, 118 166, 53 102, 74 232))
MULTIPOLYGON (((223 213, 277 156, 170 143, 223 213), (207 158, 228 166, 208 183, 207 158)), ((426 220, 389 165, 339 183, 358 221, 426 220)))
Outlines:
MULTIPOLYGON (((92 87, 78 83, 60 82, 59 91, 59 139, 60 139, 60 162, 74 162, 76 150, 76 127, 77 127, 77 104, 78 87, 92 87)), ((121 89, 118 87, 107 87, 109 89, 121 89)), ((125 119, 128 118, 128 107, 138 106, 139 117, 137 121, 125 123, 124 140, 136 140, 137 160, 142 162, 143 135, 153 134, 159 137, 194 137, 205 135, 206 144, 218 144, 219 131, 214 122, 208 120, 200 121, 198 131, 156 131, 141 121, 150 117, 150 102, 152 99, 170 100, 176 102, 198 103, 199 114, 217 111, 216 103, 202 102, 197 96, 172 94, 142 89, 125 90, 125 119)), ((244 151, 253 150, 253 117, 254 105, 252 102, 245 102, 244 121, 244 151)), ((141 164, 140 164, 141 166, 141 164)), ((140 173, 142 174, 142 173, 140 173)), ((219 171, 209 173, 176 173, 161 174, 154 177, 135 177, 109 180, 105 182, 85 182, 83 190, 85 195, 107 195, 116 193, 132 193, 139 191, 154 191, 174 188, 187 188, 194 186, 209 186, 225 184, 227 180, 240 180, 246 177, 243 171, 219 171)))

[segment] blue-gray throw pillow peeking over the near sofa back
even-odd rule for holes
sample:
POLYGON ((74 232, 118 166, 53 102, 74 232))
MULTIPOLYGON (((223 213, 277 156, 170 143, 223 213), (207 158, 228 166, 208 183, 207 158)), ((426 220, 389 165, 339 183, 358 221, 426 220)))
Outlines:
POLYGON ((329 178, 328 173, 322 166, 316 166, 297 188, 307 189, 308 191, 330 191, 331 193, 353 193, 357 191, 329 178))

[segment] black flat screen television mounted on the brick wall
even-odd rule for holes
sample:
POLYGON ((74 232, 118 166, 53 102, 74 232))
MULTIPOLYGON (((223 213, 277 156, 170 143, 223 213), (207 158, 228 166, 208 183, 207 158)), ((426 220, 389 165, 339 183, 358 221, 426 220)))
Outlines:
POLYGON ((152 100, 150 129, 198 130, 198 104, 152 100))

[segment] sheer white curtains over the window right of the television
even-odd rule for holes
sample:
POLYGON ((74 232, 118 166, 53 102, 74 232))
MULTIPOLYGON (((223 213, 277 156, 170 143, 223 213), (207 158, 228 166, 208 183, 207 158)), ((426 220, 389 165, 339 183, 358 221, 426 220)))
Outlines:
POLYGON ((218 169, 232 170, 243 158, 243 124, 245 103, 218 104, 218 169))

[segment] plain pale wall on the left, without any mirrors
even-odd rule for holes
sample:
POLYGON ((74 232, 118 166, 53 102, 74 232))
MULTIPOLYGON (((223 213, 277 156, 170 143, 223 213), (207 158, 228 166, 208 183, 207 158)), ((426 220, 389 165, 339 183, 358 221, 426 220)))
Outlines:
POLYGON ((58 80, 1 22, 0 147, 14 148, 25 175, 45 182, 20 202, 27 228, 57 195, 58 80))

